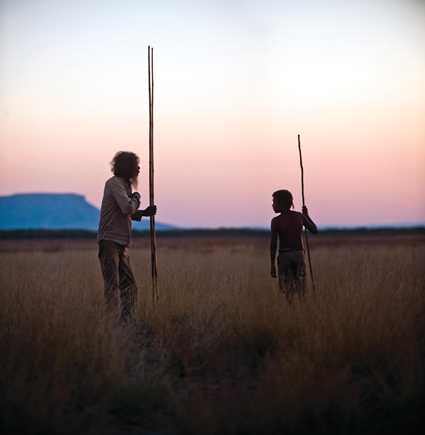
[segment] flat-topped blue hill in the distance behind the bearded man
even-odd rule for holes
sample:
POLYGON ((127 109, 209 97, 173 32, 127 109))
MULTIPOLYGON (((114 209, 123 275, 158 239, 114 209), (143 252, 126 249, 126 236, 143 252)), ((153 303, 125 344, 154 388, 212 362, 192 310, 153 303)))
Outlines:
MULTIPOLYGON (((0 196, 0 230, 82 229, 97 231, 100 210, 74 193, 24 193, 0 196)), ((156 222, 157 230, 176 227, 156 222)), ((149 219, 133 221, 135 230, 149 229, 149 219)))

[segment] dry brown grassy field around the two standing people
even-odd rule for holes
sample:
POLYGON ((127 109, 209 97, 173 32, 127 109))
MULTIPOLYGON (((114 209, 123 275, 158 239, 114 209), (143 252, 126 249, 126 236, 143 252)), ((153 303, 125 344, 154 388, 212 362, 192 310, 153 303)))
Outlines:
POLYGON ((137 319, 103 307, 96 242, 0 243, 2 434, 389 434, 425 423, 425 238, 312 241, 288 305, 267 240, 148 240, 137 319))

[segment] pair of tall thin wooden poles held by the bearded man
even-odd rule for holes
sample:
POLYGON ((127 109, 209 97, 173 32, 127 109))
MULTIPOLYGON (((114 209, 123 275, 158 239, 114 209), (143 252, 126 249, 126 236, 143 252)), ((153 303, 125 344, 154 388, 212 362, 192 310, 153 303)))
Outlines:
MULTIPOLYGON (((148 47, 149 79, 149 205, 155 205, 154 198, 154 159, 153 159, 153 48, 148 47)), ((151 265, 152 265, 152 303, 159 299, 158 265, 156 259, 155 216, 150 216, 151 265)))

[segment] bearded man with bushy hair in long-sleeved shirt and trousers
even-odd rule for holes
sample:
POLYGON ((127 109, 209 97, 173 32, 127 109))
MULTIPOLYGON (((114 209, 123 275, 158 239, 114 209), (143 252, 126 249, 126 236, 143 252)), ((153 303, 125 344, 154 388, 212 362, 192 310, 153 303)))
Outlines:
POLYGON ((140 194, 132 193, 132 187, 137 188, 139 161, 136 154, 126 151, 119 151, 112 159, 110 165, 114 176, 105 183, 97 233, 105 303, 108 310, 120 314, 123 319, 134 315, 137 296, 128 256, 131 221, 156 214, 155 205, 138 210, 140 194))

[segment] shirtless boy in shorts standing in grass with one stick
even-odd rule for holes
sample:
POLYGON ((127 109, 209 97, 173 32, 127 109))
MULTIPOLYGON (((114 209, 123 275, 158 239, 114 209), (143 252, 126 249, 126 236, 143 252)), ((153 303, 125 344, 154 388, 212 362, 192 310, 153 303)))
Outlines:
POLYGON ((305 259, 302 239, 303 226, 313 234, 319 230, 316 224, 308 215, 307 207, 303 207, 303 212, 292 211, 294 208, 291 192, 288 190, 278 190, 273 193, 273 211, 280 213, 271 222, 271 242, 270 242, 270 274, 276 278, 276 248, 277 237, 279 235, 279 256, 278 276, 279 290, 285 293, 289 302, 292 301, 294 294, 300 297, 304 295, 305 289, 305 259))

